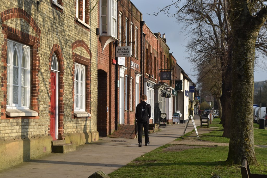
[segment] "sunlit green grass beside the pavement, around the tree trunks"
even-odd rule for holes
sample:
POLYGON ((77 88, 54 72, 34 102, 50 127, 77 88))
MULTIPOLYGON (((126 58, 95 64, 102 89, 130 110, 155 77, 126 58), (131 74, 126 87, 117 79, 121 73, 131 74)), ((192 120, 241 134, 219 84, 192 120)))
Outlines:
MULTIPOLYGON (((219 143, 227 143, 221 135, 222 126, 219 119, 213 121, 211 126, 218 129, 209 134, 201 135, 201 139, 219 143), (215 137, 215 138, 214 138, 215 137)), ((190 135, 192 132, 186 134, 190 135)), ((267 129, 254 129, 255 143, 266 144, 267 129)), ((184 139, 186 139, 186 135, 184 139)), ((177 139, 179 140, 179 139, 177 139)), ((229 142, 229 139, 228 139, 229 142)), ((240 165, 226 165, 228 147, 205 147, 187 149, 184 151, 168 151, 172 144, 166 144, 143 156, 138 157, 126 166, 109 174, 110 177, 211 177, 214 174, 222 178, 240 177, 240 165)), ((267 148, 255 148, 258 166, 250 166, 252 173, 267 174, 267 148)))

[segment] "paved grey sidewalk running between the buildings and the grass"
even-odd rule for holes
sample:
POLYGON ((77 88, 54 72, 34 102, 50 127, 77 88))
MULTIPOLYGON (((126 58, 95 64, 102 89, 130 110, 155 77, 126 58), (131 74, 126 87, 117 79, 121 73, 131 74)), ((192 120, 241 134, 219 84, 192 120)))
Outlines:
MULTIPOLYGON (((195 124, 200 125, 199 116, 195 124)), ((100 137, 100 140, 76 147, 69 153, 51 153, 34 160, 3 169, 0 177, 87 178, 96 171, 108 174, 133 159, 165 145, 183 135, 186 124, 171 124, 149 135, 150 144, 138 147, 137 139, 100 137)), ((191 121, 186 133, 194 129, 191 121)), ((144 143, 144 137, 143 137, 144 143)))

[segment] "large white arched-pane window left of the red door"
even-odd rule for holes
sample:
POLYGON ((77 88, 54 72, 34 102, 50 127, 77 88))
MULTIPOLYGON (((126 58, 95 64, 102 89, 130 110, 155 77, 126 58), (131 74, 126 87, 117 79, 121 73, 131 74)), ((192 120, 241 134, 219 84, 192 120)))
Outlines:
POLYGON ((30 47, 7 40, 7 108, 29 109, 30 47))

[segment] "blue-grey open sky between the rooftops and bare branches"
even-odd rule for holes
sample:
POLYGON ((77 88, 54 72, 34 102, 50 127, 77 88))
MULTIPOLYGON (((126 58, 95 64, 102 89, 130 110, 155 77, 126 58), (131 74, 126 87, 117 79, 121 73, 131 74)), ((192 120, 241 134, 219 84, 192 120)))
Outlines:
MULTIPOLYGON (((183 45, 187 45, 186 33, 182 31, 182 25, 178 25, 175 17, 168 17, 164 12, 159 13, 157 16, 148 15, 153 12, 158 12, 158 7, 163 8, 172 3, 172 0, 131 0, 135 7, 143 14, 143 21, 150 28, 153 33, 165 33, 167 45, 170 47, 170 53, 177 60, 177 64, 186 72, 189 78, 197 84, 197 78, 194 76, 194 65, 189 63, 186 59, 188 54, 183 45)), ((174 9, 172 9, 174 11, 174 9)), ((266 61, 267 63, 267 61, 266 61)), ((267 80, 266 69, 254 69, 254 81, 267 80)))

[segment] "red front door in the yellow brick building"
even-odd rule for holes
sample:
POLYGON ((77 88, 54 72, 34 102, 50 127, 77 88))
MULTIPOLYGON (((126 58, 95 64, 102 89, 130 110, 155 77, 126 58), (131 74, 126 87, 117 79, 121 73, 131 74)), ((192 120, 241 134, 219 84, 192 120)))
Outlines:
POLYGON ((56 73, 51 72, 50 134, 56 140, 56 73))

